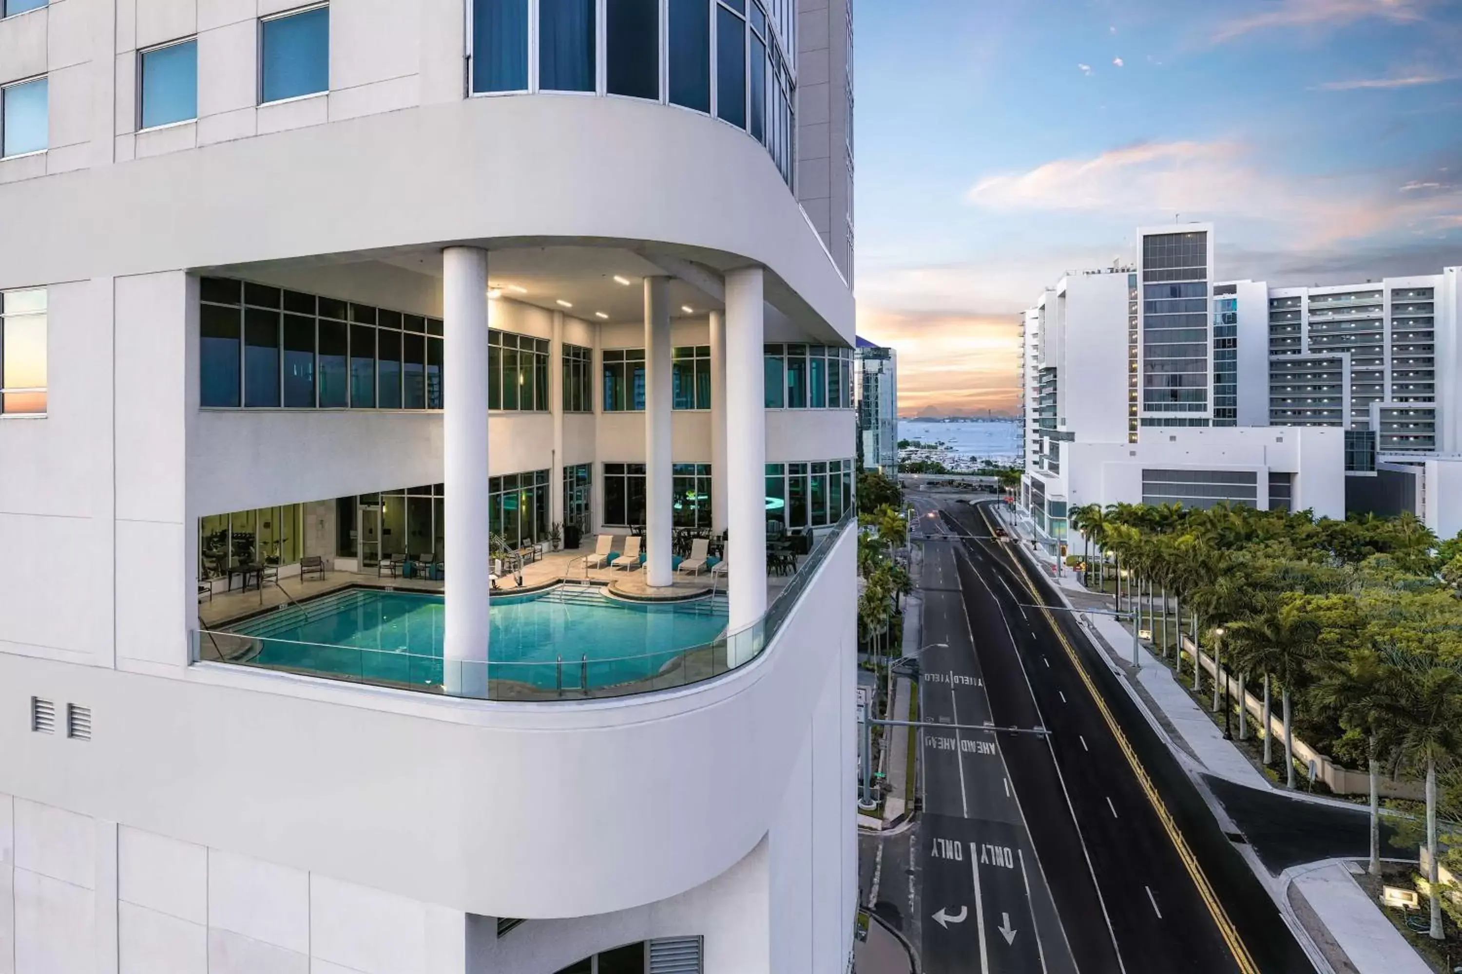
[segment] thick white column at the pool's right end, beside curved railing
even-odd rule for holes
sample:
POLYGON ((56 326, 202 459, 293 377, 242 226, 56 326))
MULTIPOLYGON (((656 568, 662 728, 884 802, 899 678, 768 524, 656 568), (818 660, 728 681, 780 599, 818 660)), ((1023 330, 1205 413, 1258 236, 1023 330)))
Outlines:
POLYGON ((725 482, 731 632, 766 612, 766 374, 762 365, 762 269, 727 275, 725 482))

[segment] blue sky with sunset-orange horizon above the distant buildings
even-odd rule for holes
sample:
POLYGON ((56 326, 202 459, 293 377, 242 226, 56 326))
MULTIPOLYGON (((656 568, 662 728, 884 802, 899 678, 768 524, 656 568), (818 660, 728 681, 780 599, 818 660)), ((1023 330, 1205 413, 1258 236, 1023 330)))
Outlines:
POLYGON ((904 415, 1010 412, 1018 312, 1216 223, 1218 277, 1462 264, 1456 0, 858 0, 858 331, 904 415))

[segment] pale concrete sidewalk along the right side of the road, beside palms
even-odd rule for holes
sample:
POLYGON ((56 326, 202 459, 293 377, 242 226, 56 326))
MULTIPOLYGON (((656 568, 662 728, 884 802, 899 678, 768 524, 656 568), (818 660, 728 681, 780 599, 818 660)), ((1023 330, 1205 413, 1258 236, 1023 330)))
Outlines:
MULTIPOLYGON (((1023 537, 1012 515, 999 505, 994 510, 1013 536, 1023 537)), ((1029 540, 1025 540, 1020 548, 1026 564, 1039 561, 1048 577, 1054 574, 1051 562, 1031 551, 1029 540)), ((1088 591, 1072 572, 1063 571, 1053 581, 1067 605, 1073 603, 1072 596, 1076 596, 1077 605, 1094 605, 1101 597, 1098 593, 1088 591)), ((1156 657, 1151 645, 1140 644, 1137 653, 1140 666, 1136 679, 1133 679, 1132 629, 1111 616, 1079 615, 1077 618, 1082 619, 1088 637, 1102 650, 1113 670, 1121 673, 1127 685, 1133 688, 1154 721, 1167 735, 1171 746, 1181 752, 1180 761, 1186 756, 1190 764, 1197 765, 1206 774, 1254 789, 1276 790, 1238 751, 1237 745, 1224 740, 1219 727, 1178 683, 1173 670, 1156 657)), ((1192 669, 1187 670, 1186 678, 1192 679, 1192 669)), ((1212 686, 1208 680, 1205 683, 1212 686)), ((1203 790, 1206 793, 1206 789, 1203 790)), ((1310 800, 1310 796, 1291 797, 1310 800)), ((1216 803, 1211 796, 1209 799, 1216 810, 1216 803)), ((1325 799, 1313 800, 1329 803, 1325 799)), ((1246 859, 1259 879, 1269 886, 1281 910, 1306 930, 1314 942, 1314 948, 1326 955, 1329 967, 1336 974, 1427 974, 1430 971, 1390 924, 1390 920, 1382 914, 1380 907, 1371 902, 1370 897, 1355 885, 1339 860, 1310 863, 1289 869, 1284 876, 1270 876, 1257 859, 1246 859), (1298 894, 1298 902, 1295 894, 1298 894)))

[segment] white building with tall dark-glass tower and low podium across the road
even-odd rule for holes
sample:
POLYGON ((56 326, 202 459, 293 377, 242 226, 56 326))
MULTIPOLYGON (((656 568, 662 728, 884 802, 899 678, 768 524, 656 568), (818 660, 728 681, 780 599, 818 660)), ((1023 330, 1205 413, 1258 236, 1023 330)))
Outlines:
POLYGON ((1342 435, 1251 422, 1254 353, 1212 279, 1212 225, 1140 228, 1132 266, 1069 273, 1022 315, 1020 505, 1047 553, 1085 504, 1344 515, 1342 435))

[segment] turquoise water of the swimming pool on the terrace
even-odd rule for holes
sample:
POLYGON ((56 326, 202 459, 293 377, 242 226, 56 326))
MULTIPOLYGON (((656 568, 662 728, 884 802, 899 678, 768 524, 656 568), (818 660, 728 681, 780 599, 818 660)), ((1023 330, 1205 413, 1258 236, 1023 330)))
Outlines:
MULTIPOLYGON (((595 590, 494 596, 488 678, 538 689, 613 686, 659 673, 727 625, 724 599, 637 605, 595 590), (560 657, 563 664, 560 666, 560 657)), ((442 682, 443 597, 352 588, 230 626, 249 662, 368 682, 442 682)))

